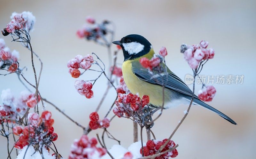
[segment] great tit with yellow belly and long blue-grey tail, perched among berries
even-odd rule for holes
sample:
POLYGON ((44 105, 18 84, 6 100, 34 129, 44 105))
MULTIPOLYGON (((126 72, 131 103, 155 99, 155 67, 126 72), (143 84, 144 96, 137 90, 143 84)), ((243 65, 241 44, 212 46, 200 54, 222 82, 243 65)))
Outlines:
MULTIPOLYGON (((124 53, 122 66, 124 82, 133 94, 138 93, 140 98, 143 95, 148 95, 149 106, 151 107, 162 107, 163 94, 164 108, 190 103, 193 92, 164 63, 161 64, 167 68, 167 75, 164 75, 164 78, 159 76, 156 79, 152 79, 150 72, 141 66, 139 60, 142 57, 150 60, 155 54, 152 45, 146 38, 131 34, 123 37, 120 41, 114 41, 112 43, 122 47, 124 53), (167 82, 164 84, 164 93, 162 87, 163 79, 167 79, 167 82)), ((227 115, 204 103, 196 95, 194 96, 193 104, 205 107, 228 120, 230 123, 236 124, 227 115)))

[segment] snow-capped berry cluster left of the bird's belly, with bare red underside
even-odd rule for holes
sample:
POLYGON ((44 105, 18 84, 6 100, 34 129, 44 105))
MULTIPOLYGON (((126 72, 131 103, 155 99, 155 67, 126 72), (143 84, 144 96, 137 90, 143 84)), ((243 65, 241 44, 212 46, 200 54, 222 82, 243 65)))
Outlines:
POLYGON ((86 98, 90 99, 93 97, 92 83, 84 80, 76 80, 75 88, 77 92, 86 98))

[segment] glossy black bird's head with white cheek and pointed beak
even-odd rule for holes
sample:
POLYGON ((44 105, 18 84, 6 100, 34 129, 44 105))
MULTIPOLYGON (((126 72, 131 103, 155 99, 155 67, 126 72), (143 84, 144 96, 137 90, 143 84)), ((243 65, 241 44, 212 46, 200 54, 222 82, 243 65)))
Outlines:
POLYGON ((145 37, 137 34, 124 36, 120 41, 112 43, 122 47, 124 61, 139 58, 147 54, 152 48, 152 45, 145 37))

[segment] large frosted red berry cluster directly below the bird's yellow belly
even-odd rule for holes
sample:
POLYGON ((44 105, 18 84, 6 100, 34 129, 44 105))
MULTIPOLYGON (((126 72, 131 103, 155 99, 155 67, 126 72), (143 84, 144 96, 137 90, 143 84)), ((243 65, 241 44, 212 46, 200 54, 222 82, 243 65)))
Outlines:
POLYGON ((149 103, 149 97, 143 95, 142 99, 137 94, 127 93, 122 94, 118 93, 118 98, 115 101, 116 107, 113 109, 113 112, 116 116, 130 117, 134 111, 142 110, 149 103))

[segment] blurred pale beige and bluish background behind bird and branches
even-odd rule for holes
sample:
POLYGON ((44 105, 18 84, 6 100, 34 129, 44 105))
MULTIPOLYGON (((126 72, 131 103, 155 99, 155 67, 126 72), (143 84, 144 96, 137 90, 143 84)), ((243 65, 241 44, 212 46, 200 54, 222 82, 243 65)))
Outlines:
MULTIPOLYGON (((180 53, 180 44, 198 44, 201 40, 210 42, 215 49, 215 57, 205 65, 205 75, 244 75, 243 84, 214 84, 217 94, 210 103, 213 107, 234 119, 232 125, 218 115, 192 107, 191 111, 173 136, 178 143, 177 159, 252 159, 256 151, 255 117, 255 15, 256 1, 0 1, 0 28, 10 21, 12 12, 31 11, 36 16, 35 30, 31 33, 33 50, 44 62, 39 90, 45 98, 72 116, 76 121, 87 125, 88 115, 95 110, 106 88, 106 79, 100 78, 93 87, 94 98, 85 99, 75 88, 76 79, 68 74, 67 61, 77 54, 97 53, 107 62, 106 48, 76 37, 76 30, 91 15, 98 22, 104 19, 116 24, 116 40, 128 34, 145 36, 156 52, 165 46, 169 55, 167 65, 181 79, 191 73, 188 64, 180 53)), ((34 81, 29 51, 20 44, 4 38, 11 50, 20 52, 21 66, 27 66, 25 76, 34 81)), ((112 50, 115 46, 112 46, 112 50)), ((118 62, 122 63, 122 53, 118 62)), ((121 66, 121 65, 120 65, 121 66)), ((39 71, 39 63, 36 63, 39 71)), ((97 74, 86 73, 80 79, 94 79, 97 74)), ((15 75, 0 76, 0 90, 10 88, 18 96, 25 88, 15 75)), ((191 87, 191 85, 190 85, 191 87)), ((196 92, 200 89, 196 85, 196 92)), ((114 90, 108 94, 100 110, 102 117, 114 100, 114 90)), ((56 142, 63 157, 68 158, 70 145, 80 138, 82 130, 71 123, 50 105, 55 119, 54 128, 59 137, 56 142)), ((187 106, 165 110, 153 131, 158 139, 169 137, 187 106)), ((121 140, 124 147, 132 143, 132 122, 115 118, 109 131, 121 140)), ((92 131, 90 137, 100 130, 92 131)), ((145 135, 145 134, 144 134, 145 135)), ((108 147, 116 144, 106 139, 108 147)), ((6 158, 6 139, 0 138, 0 156, 6 158)))

